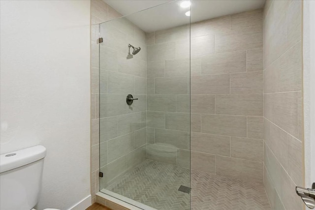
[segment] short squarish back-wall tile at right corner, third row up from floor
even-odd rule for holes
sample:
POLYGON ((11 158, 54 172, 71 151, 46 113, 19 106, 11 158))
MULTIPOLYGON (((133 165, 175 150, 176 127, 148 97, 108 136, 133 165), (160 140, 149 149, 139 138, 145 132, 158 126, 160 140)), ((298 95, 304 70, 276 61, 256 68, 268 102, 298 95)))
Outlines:
POLYGON ((253 139, 264 138, 264 118, 247 117, 247 137, 253 139))

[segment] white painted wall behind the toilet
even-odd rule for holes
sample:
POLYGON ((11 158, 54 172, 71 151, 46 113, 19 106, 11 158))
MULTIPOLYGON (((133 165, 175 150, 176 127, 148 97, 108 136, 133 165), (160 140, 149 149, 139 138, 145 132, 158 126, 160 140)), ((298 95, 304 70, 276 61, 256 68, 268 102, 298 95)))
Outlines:
POLYGON ((47 148, 37 208, 90 195, 90 0, 0 0, 0 153, 47 148))

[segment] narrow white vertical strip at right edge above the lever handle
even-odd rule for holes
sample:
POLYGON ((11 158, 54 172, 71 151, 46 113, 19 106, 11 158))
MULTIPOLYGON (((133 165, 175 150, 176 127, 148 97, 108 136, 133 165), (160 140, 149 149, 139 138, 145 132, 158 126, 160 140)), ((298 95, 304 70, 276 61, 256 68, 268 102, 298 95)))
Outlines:
POLYGON ((315 182, 315 1, 303 3, 305 180, 315 182))

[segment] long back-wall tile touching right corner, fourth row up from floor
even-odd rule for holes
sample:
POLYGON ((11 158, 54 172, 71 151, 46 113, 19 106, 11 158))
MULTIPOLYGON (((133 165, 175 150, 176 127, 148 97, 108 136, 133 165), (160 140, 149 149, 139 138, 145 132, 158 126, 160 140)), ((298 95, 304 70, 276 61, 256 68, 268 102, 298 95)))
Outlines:
POLYGON ((218 94, 216 114, 263 116, 262 94, 218 94))

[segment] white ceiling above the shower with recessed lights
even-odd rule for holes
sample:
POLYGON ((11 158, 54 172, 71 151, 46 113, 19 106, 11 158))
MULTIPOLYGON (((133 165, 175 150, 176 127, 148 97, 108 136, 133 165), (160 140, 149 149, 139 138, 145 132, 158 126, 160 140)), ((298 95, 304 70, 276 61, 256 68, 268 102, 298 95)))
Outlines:
MULTIPOLYGON (((189 23, 189 17, 185 15, 189 8, 180 7, 181 0, 104 1, 146 32, 189 23)), ((265 0, 191 0, 190 2, 191 23, 262 8, 265 4, 265 0)))

